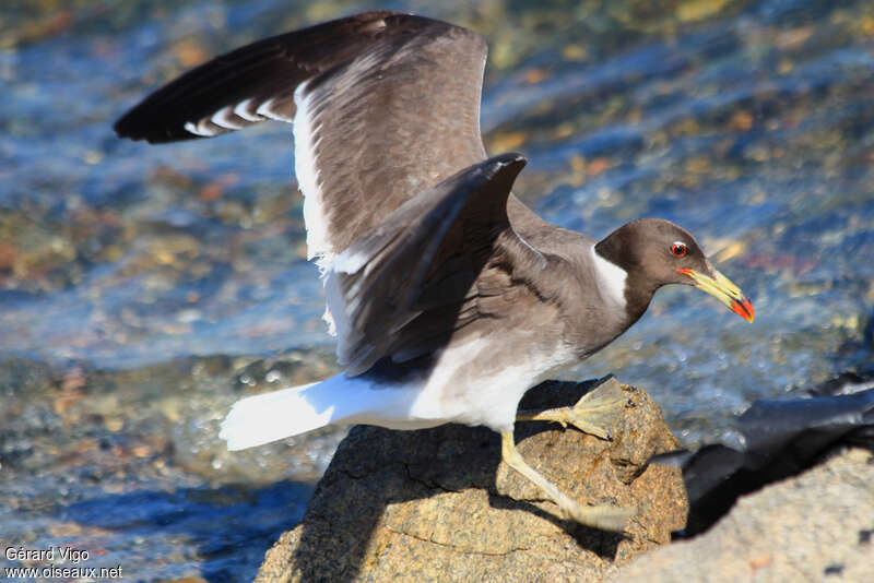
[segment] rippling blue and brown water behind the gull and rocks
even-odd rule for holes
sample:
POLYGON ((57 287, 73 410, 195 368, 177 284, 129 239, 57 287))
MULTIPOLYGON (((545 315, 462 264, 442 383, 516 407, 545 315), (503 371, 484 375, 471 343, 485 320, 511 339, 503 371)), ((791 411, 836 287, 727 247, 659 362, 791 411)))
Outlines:
MULTIPOLYGON (((870 2, 392 1, 492 47, 489 151, 602 237, 699 236, 756 307, 690 289, 571 377, 647 389, 684 442, 874 352, 870 2)), ((342 433, 229 454, 229 403, 336 367, 282 124, 150 147, 111 122, 187 68, 364 2, 13 3, 0 14, 0 542, 134 580, 251 579, 342 433)), ((0 559, 2 561, 3 559, 0 559)))

